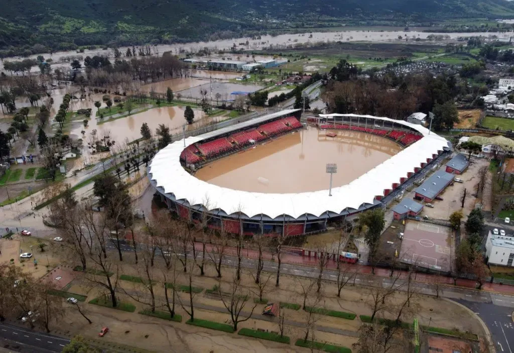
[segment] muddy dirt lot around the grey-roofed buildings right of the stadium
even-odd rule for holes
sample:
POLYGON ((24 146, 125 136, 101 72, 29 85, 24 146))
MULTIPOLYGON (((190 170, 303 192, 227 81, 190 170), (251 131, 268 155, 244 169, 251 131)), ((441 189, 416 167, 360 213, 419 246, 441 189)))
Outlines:
MULTIPOLYGON (((491 185, 484 189, 483 201, 475 198, 472 194, 476 194, 476 186, 479 182, 478 171, 482 166, 489 166, 489 161, 483 158, 471 157, 471 163, 468 169, 462 175, 456 175, 455 177, 464 180, 463 183, 455 182, 453 185, 446 188, 439 196, 443 197, 443 200, 434 200, 432 205, 434 208, 425 207, 423 214, 430 218, 436 219, 448 219, 449 215, 454 211, 462 210, 464 215, 469 214, 475 207, 476 203, 482 203, 482 209, 484 211, 491 210, 491 185), (462 194, 466 189, 466 200, 464 202, 464 209, 461 209, 462 194)), ((445 168, 443 165, 441 168, 445 168)), ((489 180, 492 176, 489 173, 489 180)))

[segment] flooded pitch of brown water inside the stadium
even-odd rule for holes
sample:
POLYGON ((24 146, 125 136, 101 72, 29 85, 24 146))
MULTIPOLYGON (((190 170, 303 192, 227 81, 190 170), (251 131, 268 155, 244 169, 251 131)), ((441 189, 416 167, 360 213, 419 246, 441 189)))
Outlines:
POLYGON ((236 190, 300 193, 328 189, 326 163, 337 163, 333 187, 340 187, 373 169, 401 147, 385 138, 307 128, 246 152, 215 161, 196 173, 201 180, 236 190))

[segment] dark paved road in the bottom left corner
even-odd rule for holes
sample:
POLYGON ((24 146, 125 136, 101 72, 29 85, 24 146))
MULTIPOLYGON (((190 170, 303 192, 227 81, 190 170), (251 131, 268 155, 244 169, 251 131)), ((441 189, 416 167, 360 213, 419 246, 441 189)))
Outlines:
POLYGON ((5 323, 0 324, 0 337, 18 344, 20 352, 60 352, 69 343, 66 338, 5 323))

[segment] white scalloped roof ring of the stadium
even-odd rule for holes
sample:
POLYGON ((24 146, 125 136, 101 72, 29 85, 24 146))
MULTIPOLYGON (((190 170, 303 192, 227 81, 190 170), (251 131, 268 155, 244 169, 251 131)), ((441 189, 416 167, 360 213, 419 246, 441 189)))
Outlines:
MULTIPOLYGON (((296 109, 285 110, 274 114, 274 116, 283 116, 294 111, 296 109)), ((323 214, 327 214, 327 212, 340 214, 347 208, 359 209, 363 204, 373 205, 375 196, 383 195, 384 190, 391 189, 393 183, 399 183, 400 178, 407 177, 409 172, 414 172, 415 167, 420 167, 421 163, 426 163, 428 158, 433 158, 433 155, 437 155, 438 151, 443 151, 444 148, 448 147, 448 141, 443 137, 434 133, 429 134, 427 128, 406 121, 354 114, 320 116, 351 116, 385 120, 410 127, 423 134, 424 138, 352 182, 333 188, 333 196, 328 196, 328 190, 297 194, 253 193, 222 188, 199 180, 186 172, 180 164, 180 153, 184 149, 183 140, 169 144, 155 155, 150 164, 150 179, 153 180, 153 184, 156 187, 161 187, 164 193, 173 193, 176 200, 187 200, 191 206, 203 205, 209 211, 221 209, 228 215, 242 212, 248 217, 267 215, 268 217, 276 218, 286 215, 299 218, 306 214, 320 217, 323 214)), ((271 119, 269 116, 267 117, 268 120, 271 119)), ((253 123, 260 122, 263 121, 263 118, 250 121, 253 121, 253 123)), ((250 121, 242 124, 248 126, 250 121)), ((234 128, 235 125, 230 130, 233 131, 234 128)), ((218 130, 204 135, 189 137, 186 139, 185 144, 189 146, 223 133, 224 131, 218 130)))

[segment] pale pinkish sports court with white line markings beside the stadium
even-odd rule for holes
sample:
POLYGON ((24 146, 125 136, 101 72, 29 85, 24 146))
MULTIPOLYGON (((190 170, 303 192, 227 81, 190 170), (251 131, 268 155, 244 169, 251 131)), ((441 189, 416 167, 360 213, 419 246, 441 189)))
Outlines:
POLYGON ((399 259, 439 271, 450 270, 450 228, 408 220, 399 259))

